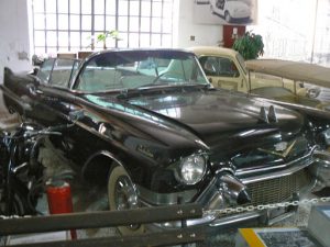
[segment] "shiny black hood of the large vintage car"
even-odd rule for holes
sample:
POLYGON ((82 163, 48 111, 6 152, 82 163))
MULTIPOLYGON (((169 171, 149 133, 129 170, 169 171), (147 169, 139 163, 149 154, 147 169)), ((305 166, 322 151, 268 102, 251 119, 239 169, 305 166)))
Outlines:
POLYGON ((277 121, 267 123, 261 112, 268 114, 272 104, 223 90, 140 96, 128 103, 185 126, 209 147, 258 142, 257 137, 280 141, 299 133, 304 123, 299 113, 278 105, 273 105, 277 121))

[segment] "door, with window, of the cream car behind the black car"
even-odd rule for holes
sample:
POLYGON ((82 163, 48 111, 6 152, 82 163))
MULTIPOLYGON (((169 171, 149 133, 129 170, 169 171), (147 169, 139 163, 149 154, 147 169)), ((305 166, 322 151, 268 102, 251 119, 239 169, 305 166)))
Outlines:
POLYGON ((235 61, 226 56, 201 56, 200 65, 216 88, 246 92, 246 77, 235 61))

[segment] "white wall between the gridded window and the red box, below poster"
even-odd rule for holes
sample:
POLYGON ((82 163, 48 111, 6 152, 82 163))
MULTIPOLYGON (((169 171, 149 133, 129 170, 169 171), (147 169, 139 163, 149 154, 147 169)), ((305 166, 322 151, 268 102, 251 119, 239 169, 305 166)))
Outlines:
POLYGON ((176 47, 218 45, 222 41, 222 25, 195 24, 194 0, 179 0, 177 14, 178 24, 174 35, 176 47), (195 36, 195 41, 190 41, 190 36, 195 36))

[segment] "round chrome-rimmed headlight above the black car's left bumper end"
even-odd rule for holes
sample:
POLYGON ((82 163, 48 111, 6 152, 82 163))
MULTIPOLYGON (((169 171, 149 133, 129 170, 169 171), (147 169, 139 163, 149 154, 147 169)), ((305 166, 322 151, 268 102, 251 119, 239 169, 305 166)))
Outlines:
POLYGON ((186 184, 199 182, 206 173, 206 160, 201 155, 191 155, 182 160, 180 179, 186 184))

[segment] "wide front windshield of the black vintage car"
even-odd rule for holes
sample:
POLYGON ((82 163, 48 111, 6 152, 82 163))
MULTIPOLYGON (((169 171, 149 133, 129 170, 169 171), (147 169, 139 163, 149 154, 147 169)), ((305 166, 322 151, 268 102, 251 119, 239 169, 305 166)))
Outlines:
POLYGON ((99 92, 209 85, 196 57, 179 50, 120 50, 90 58, 75 89, 99 92))

